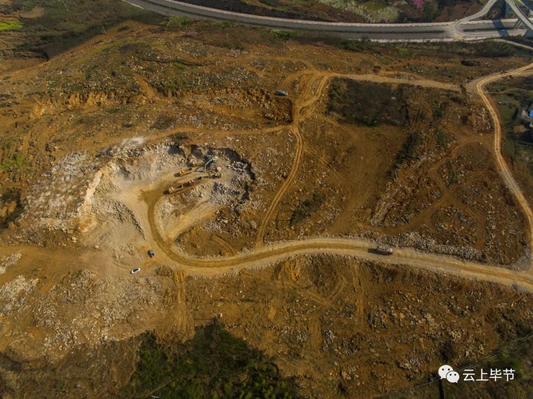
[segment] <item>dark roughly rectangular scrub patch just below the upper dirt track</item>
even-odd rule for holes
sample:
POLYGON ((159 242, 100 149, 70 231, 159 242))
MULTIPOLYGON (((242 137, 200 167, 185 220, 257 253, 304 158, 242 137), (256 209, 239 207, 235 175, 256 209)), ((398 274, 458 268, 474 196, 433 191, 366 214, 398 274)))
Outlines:
POLYGON ((337 113, 352 124, 403 126, 408 108, 403 86, 393 89, 385 84, 360 83, 336 78, 329 90, 328 113, 337 113))

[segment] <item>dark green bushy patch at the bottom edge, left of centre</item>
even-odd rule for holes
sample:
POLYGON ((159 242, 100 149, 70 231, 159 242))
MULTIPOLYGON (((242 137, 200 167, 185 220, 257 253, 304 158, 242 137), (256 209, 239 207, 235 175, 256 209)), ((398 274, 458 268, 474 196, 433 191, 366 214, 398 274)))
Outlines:
POLYGON ((143 336, 139 361, 124 397, 160 399, 296 399, 292 380, 284 379, 262 352, 232 336, 220 323, 196 330, 175 347, 143 336))

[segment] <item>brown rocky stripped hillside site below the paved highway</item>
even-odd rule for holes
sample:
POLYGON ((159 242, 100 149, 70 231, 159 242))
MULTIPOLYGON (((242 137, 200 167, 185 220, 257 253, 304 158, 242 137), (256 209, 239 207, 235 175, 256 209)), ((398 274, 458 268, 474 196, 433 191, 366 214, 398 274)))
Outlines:
POLYGON ((533 49, 399 47, 128 21, 5 64, 2 397, 156 397, 147 334, 213 325, 294 398, 439 397, 529 340, 533 178, 490 87, 533 49))

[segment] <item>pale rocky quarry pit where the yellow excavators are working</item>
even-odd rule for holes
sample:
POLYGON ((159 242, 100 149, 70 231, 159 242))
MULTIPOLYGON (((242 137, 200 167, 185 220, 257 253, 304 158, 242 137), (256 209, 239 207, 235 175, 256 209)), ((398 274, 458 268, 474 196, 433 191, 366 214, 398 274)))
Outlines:
POLYGON ((220 215, 248 206, 253 182, 249 162, 235 151, 175 143, 117 154, 97 175, 93 192, 80 208, 80 226, 87 245, 102 243, 117 258, 121 252, 132 253, 131 248, 144 250, 155 243, 174 247, 176 237, 193 227, 203 225, 205 231, 208 223, 220 223, 220 215), (191 165, 215 157, 208 166, 192 167, 180 176, 191 165), (215 177, 218 173, 221 177, 215 177), (168 193, 173 186, 199 178, 192 186, 168 193))

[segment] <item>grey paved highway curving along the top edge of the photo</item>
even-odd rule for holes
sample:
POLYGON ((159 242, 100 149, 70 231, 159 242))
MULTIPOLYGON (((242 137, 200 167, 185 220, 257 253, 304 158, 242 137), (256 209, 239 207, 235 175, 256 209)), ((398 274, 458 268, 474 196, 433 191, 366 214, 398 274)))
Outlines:
MULTIPOLYGON (((344 23, 304 21, 217 10, 173 0, 123 1, 141 7, 142 9, 151 10, 164 15, 177 15, 215 21, 228 20, 262 28, 300 30, 313 32, 314 34, 335 34, 353 39, 362 37, 376 40, 482 39, 503 35, 523 35, 527 31, 524 29, 512 29, 516 19, 508 20, 503 26, 500 26, 500 28, 506 29, 505 32, 500 32, 494 21, 473 21, 486 14, 492 5, 496 3, 496 0, 489 0, 479 12, 470 17, 455 22, 427 23, 344 23), (469 31, 466 31, 465 29, 468 29, 469 31)), ((512 3, 513 0, 506 0, 506 2, 512 3)))

